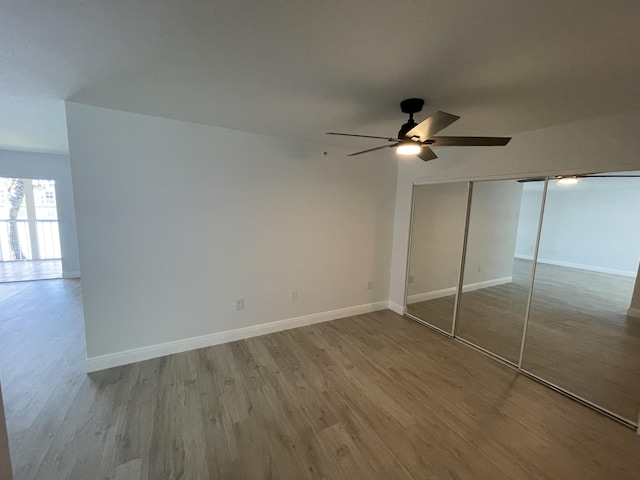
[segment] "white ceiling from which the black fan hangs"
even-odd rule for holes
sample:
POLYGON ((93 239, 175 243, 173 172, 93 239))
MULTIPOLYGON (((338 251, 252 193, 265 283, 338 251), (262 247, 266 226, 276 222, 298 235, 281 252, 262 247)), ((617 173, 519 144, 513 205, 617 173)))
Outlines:
MULTIPOLYGON (((638 0, 5 0, 0 148, 67 151, 65 99, 354 148, 406 97, 508 135, 640 106, 638 0)), ((364 142, 364 143, 363 143, 364 142)), ((375 146, 375 145, 371 145, 375 146)))

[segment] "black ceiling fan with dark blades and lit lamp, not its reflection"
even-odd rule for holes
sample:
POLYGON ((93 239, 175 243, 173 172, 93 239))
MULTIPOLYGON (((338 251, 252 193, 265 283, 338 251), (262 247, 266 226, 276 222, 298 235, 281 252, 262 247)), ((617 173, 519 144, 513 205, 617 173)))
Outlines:
POLYGON ((328 132, 327 135, 342 135, 345 137, 379 138, 390 142, 388 145, 370 148, 361 152, 352 153, 362 155, 383 148, 395 148, 399 155, 417 155, 425 162, 438 158, 431 147, 496 147, 509 143, 511 137, 442 137, 435 136, 440 130, 451 125, 460 117, 446 112, 436 112, 420 123, 416 123, 413 114, 422 111, 424 100, 421 98, 408 98, 400 102, 403 113, 409 114, 407 123, 400 127, 398 137, 377 137, 374 135, 357 135, 352 133, 328 132))

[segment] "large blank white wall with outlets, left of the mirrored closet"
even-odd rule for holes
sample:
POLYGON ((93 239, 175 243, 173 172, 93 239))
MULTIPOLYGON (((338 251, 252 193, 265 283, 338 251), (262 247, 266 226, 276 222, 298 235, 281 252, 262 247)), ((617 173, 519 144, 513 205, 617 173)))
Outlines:
POLYGON ((75 103, 67 123, 90 368, 387 305, 388 155, 75 103))

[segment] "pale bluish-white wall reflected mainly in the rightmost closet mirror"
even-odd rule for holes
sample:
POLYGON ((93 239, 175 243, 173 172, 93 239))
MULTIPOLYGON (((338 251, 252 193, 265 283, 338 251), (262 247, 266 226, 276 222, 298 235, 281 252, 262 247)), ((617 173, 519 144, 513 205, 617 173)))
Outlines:
MULTIPOLYGON (((529 190, 539 209, 542 185, 529 190)), ((635 277, 640 259, 640 178, 584 178, 577 185, 549 183, 538 260, 635 277)), ((520 240, 516 253, 530 257, 520 240)))

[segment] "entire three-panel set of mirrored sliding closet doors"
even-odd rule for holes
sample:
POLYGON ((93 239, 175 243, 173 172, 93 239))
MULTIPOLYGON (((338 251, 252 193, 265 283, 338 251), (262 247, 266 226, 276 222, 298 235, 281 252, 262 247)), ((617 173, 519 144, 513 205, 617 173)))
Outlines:
POLYGON ((628 425, 640 172, 416 185, 406 313, 628 425))

